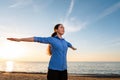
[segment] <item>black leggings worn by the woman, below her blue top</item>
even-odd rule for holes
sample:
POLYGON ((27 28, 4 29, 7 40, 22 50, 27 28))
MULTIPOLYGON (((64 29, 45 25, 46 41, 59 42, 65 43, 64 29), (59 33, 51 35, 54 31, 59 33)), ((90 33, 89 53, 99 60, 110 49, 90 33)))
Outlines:
POLYGON ((67 80, 67 79, 68 79, 67 70, 58 71, 48 69, 47 80, 67 80))

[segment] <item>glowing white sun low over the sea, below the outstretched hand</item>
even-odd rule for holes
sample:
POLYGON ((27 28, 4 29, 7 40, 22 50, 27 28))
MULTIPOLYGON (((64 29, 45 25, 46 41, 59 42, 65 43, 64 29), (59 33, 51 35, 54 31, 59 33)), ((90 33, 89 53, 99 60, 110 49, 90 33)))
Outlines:
POLYGON ((0 49, 0 58, 10 60, 10 59, 17 59, 23 54, 25 54, 26 50, 23 45, 18 42, 4 42, 0 49))

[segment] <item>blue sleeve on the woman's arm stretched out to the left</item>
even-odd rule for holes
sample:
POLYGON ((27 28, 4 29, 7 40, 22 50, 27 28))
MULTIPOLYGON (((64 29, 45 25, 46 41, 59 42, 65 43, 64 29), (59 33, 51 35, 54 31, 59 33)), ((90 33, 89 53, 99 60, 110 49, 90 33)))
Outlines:
POLYGON ((34 37, 34 42, 50 44, 52 42, 51 37, 34 37))

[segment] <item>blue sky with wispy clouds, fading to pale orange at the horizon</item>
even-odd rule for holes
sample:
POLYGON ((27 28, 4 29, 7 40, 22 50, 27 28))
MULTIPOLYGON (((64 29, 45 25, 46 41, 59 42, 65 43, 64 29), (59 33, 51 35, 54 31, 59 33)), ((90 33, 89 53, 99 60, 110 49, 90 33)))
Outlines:
POLYGON ((49 61, 46 44, 8 37, 49 37, 56 24, 68 61, 120 61, 120 0, 0 0, 0 61, 49 61))

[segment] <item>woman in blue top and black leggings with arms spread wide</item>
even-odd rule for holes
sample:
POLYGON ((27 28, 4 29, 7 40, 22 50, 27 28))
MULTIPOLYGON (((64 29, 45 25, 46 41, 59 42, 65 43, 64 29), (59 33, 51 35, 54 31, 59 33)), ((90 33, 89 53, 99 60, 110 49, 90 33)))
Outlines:
POLYGON ((62 24, 57 24, 54 27, 54 33, 51 37, 30 37, 30 38, 7 38, 11 41, 26 41, 26 42, 40 42, 49 44, 48 51, 51 55, 47 80, 67 80, 67 49, 70 47, 76 50, 69 42, 67 42, 62 35, 64 34, 64 27, 62 24))

